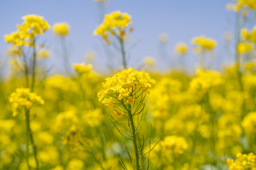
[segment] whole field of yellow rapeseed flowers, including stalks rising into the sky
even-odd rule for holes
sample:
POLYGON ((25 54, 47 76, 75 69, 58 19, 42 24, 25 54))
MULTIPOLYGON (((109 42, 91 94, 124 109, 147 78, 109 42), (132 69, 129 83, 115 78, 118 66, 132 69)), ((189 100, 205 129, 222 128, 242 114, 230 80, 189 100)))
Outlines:
MULTIPOLYGON (((116 10, 91 32, 118 54, 102 74, 93 53, 70 62, 68 23, 21 17, 3 37, 10 69, 0 77, 0 170, 256 170, 256 0, 226 8, 238 23, 225 36, 235 42, 232 62, 216 70, 206 61, 219 43, 204 35, 176 44, 179 68, 161 72, 152 57, 132 67, 136 25, 116 10), (59 40, 62 72, 46 67, 46 32, 59 40), (189 53, 199 56, 194 70, 182 62, 189 53)), ((167 42, 161 34, 163 49, 167 42)))

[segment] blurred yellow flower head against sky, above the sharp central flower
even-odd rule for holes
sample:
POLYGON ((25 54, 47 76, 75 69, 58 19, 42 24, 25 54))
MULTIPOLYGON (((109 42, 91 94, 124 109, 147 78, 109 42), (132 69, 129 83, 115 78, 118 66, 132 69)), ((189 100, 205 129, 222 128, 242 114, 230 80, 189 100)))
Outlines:
POLYGON ((120 11, 114 11, 108 15, 105 15, 104 21, 98 28, 94 30, 94 35, 100 34, 101 37, 111 43, 108 34, 118 35, 121 39, 124 38, 125 28, 131 23, 131 17, 127 13, 121 13, 120 11))

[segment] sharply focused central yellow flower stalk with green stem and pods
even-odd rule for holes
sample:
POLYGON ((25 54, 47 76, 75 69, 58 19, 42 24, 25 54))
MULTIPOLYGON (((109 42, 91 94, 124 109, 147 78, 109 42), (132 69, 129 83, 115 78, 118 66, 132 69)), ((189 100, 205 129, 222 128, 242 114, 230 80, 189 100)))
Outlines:
MULTIPOLYGON (((106 82, 103 83, 103 89, 98 93, 99 101, 106 106, 110 106, 115 110, 115 116, 109 113, 110 120, 117 128, 120 135, 126 139, 132 141, 134 148, 134 156, 128 151, 128 147, 125 144, 125 149, 128 153, 130 162, 136 167, 136 170, 141 170, 147 163, 149 166, 149 154, 154 149, 155 145, 151 147, 151 130, 149 137, 145 141, 143 136, 142 145, 138 146, 138 127, 143 119, 143 113, 145 109, 145 97, 146 93, 149 93, 151 85, 155 84, 155 80, 151 79, 149 74, 145 71, 139 72, 133 68, 121 70, 119 73, 112 77, 106 78, 106 82), (118 119, 124 117, 125 122, 120 122, 118 119), (135 118, 137 117, 137 119, 135 118), (121 130, 117 124, 126 124, 130 133, 121 130), (144 146, 149 142, 149 151, 143 153, 144 146), (140 158, 148 154, 148 157, 144 162, 140 162, 140 158)), ((127 166, 119 155, 122 169, 127 170, 127 166)))

